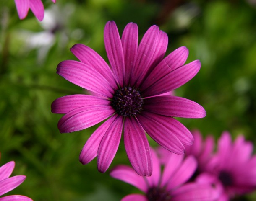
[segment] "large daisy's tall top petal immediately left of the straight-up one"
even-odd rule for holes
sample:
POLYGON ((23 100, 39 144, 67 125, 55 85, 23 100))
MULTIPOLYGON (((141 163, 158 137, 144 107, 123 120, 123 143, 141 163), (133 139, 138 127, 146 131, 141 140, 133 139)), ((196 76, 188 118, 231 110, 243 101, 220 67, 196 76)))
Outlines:
POLYGON ((124 57, 121 39, 118 28, 114 21, 108 21, 104 28, 104 44, 110 66, 115 72, 118 82, 123 86, 124 77, 124 57))

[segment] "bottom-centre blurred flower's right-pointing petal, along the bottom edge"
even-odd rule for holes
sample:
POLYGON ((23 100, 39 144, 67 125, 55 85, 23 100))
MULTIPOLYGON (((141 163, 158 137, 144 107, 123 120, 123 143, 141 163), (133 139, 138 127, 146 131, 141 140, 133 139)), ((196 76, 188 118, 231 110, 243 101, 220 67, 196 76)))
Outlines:
POLYGON ((173 201, 215 201, 219 191, 210 185, 187 183, 172 192, 173 201))

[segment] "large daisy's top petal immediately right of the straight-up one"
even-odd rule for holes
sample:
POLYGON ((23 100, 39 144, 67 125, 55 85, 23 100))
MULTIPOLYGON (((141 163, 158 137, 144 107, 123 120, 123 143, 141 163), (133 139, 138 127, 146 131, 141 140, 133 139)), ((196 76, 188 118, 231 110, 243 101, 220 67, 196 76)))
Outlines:
POLYGON ((144 78, 152 61, 155 49, 157 47, 157 38, 159 28, 156 25, 151 26, 144 34, 138 46, 136 62, 134 65, 133 76, 131 77, 131 86, 138 87, 144 78))

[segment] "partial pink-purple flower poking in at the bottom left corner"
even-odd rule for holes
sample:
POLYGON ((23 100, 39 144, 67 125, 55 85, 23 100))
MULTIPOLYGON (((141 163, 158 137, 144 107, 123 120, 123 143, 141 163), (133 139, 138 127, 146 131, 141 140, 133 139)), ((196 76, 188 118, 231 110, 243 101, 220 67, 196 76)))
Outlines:
MULTIPOLYGON (((10 174, 13 172, 14 166, 15 166, 15 162, 10 161, 0 167, 0 196, 13 190, 17 186, 19 186, 22 182, 24 182, 24 180, 26 179, 26 176, 24 175, 17 175, 17 176, 10 177, 10 174)), ((32 201, 32 200, 26 196, 13 195, 13 196, 0 197, 0 201, 32 201)))

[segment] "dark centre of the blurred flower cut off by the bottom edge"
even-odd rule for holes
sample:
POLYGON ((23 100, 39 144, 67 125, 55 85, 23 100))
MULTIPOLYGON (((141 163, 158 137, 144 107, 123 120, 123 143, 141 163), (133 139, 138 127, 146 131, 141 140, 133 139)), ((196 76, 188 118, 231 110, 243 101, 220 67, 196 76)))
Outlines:
POLYGON ((148 201, 170 201, 171 196, 165 190, 165 188, 152 187, 149 188, 149 191, 146 193, 146 198, 148 201))

